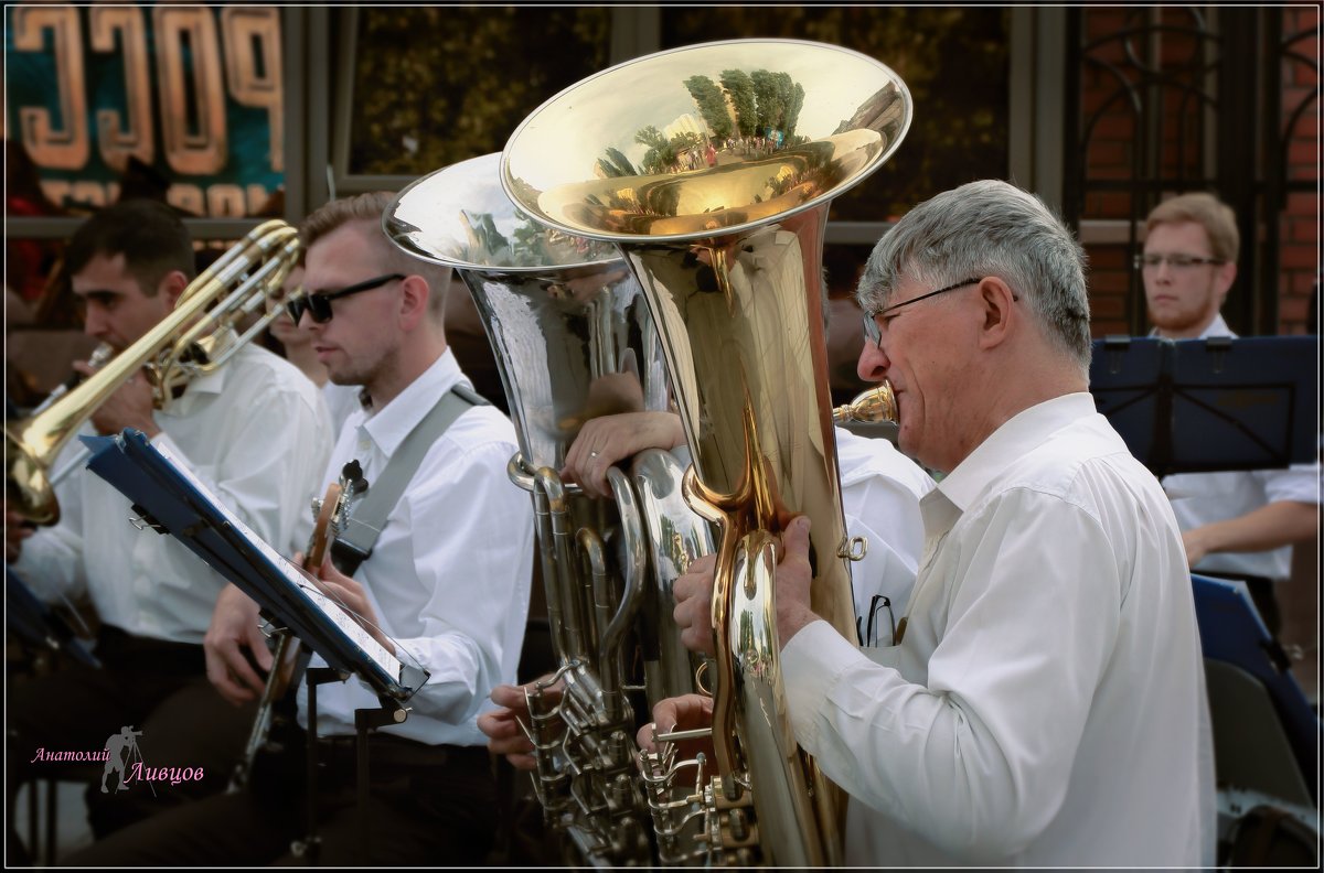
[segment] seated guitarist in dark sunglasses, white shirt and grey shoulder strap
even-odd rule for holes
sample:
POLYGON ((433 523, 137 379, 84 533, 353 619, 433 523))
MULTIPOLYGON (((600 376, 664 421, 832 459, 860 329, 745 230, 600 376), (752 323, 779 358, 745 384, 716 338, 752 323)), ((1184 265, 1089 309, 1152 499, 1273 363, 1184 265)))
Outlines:
MULTIPOLYGON (((391 200, 361 194, 308 216, 301 228, 308 296, 291 302, 291 316, 311 333, 331 381, 360 385, 365 401, 342 429, 324 484, 357 460, 368 480, 368 496, 356 504, 361 509, 373 488, 387 487, 391 476, 383 471, 393 459, 416 464, 357 569, 346 574, 327 561, 319 586, 430 677, 409 698, 404 722, 368 737, 365 808, 356 799, 355 713, 377 709, 379 701, 350 679, 316 692, 314 833, 305 819, 301 735, 281 761, 266 765, 286 778, 256 771, 248 788, 115 835, 71 864, 291 862, 291 841, 308 836, 318 841, 311 860, 330 866, 485 861, 495 835, 495 783, 477 718, 490 706, 491 689, 515 676, 532 575, 532 516, 528 496, 506 475, 516 451, 514 426, 469 393, 446 344, 450 271, 413 259, 383 234, 391 200), (434 434, 434 410, 448 407, 453 394, 466 399, 434 434), (426 439, 412 439, 418 434, 426 439), (360 815, 368 820, 368 857, 360 815)), ((236 704, 262 692, 248 653, 270 667, 257 607, 230 587, 217 603, 207 655, 212 681, 236 704)), ((298 718, 305 730, 306 701, 303 686, 298 718)))

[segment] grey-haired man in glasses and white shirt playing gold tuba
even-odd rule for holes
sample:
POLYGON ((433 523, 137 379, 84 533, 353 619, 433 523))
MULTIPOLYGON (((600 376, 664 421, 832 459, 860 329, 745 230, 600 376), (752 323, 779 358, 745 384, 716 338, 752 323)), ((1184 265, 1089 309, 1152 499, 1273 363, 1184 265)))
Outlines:
MULTIPOLYGON (((846 861, 1213 862, 1204 665, 1181 534, 1088 393, 1084 254, 1002 181, 937 194, 875 246, 861 377, 945 474, 900 643, 866 652, 809 607, 808 519, 777 566, 788 714, 850 795, 846 861)), ((711 645, 711 561, 675 585, 711 645)), ((654 709, 694 726, 703 701, 654 709)), ((641 731, 647 742, 650 729, 641 731)))

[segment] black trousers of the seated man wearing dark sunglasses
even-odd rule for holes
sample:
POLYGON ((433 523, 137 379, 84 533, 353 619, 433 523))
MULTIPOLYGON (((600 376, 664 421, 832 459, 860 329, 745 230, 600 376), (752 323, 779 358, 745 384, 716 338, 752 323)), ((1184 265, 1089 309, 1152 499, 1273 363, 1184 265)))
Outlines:
MULTIPOLYGON (((350 739, 350 738, 347 738, 350 739)), ((352 742, 319 742, 314 835, 322 866, 483 865, 496 829, 491 758, 481 746, 426 746, 372 734, 364 856, 352 742)), ((254 770, 249 787, 172 810, 61 858, 69 866, 305 865, 302 743, 254 770), (294 776, 293 774, 298 774, 294 776)))

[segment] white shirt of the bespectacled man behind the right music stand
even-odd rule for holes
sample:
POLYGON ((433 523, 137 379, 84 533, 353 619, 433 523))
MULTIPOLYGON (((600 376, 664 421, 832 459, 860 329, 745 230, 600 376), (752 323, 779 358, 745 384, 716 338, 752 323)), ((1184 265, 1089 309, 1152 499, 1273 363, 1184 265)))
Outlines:
MULTIPOLYGON (((1229 329, 1223 316, 1215 315, 1200 339, 1210 336, 1237 335, 1229 329)), ((1319 505, 1321 481, 1324 479, 1316 462, 1292 464, 1286 470, 1173 474, 1164 476, 1162 487, 1172 500, 1177 524, 1182 530, 1192 530, 1215 521, 1239 519, 1247 512, 1279 500, 1319 505)), ((1292 571, 1292 546, 1284 545, 1264 552, 1210 552, 1193 570, 1286 579, 1292 571)))

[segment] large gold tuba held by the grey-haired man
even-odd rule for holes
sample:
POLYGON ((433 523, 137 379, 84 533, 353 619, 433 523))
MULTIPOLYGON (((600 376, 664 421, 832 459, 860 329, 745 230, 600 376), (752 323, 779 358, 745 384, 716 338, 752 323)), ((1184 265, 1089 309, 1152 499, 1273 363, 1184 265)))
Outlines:
MULTIPOLYGON (((822 237, 831 198, 878 169, 910 120, 906 85, 870 57, 740 40, 598 73, 535 110, 502 155, 520 209, 616 243, 638 276, 694 456, 687 497, 722 528, 716 774, 695 790, 712 864, 842 858, 845 796, 797 746, 786 712, 773 534, 786 512, 812 519, 813 608, 854 639, 822 237)), ((681 772, 670 758, 641 767, 647 779, 681 772)))

